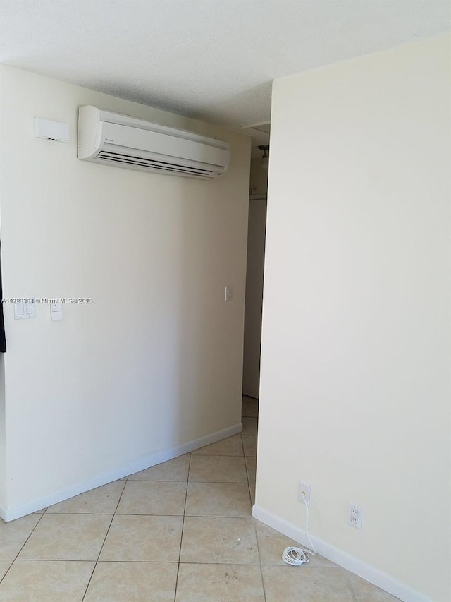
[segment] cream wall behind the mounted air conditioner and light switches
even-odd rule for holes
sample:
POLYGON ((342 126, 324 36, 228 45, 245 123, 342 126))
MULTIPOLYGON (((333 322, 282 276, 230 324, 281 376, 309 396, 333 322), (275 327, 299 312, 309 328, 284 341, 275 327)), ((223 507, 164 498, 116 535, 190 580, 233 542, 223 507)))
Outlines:
POLYGON ((56 323, 48 306, 16 322, 5 306, 14 517, 240 428, 250 150, 224 128, 14 68, 1 77, 4 296, 94 299, 56 323), (82 104, 226 138, 230 171, 200 181, 80 162, 82 104), (35 116, 68 123, 70 144, 35 139, 35 116))

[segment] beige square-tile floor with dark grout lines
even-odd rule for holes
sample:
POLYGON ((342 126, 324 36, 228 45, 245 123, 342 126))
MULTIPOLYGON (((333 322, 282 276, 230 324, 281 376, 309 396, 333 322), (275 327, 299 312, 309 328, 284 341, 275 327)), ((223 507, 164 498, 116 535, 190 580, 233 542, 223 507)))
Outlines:
POLYGON ((241 435, 4 524, 1 602, 384 602, 396 598, 252 518, 257 402, 241 435))

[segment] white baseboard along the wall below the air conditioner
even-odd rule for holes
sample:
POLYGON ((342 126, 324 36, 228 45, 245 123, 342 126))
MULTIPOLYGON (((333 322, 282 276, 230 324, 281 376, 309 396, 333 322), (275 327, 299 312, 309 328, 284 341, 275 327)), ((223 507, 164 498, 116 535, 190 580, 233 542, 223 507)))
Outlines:
POLYGON ((242 424, 235 424, 234 426, 224 428, 222 431, 216 431, 216 433, 210 433, 209 435, 204 435, 204 437, 200 437, 199 439, 188 441, 183 445, 176 445, 168 450, 150 454, 149 456, 136 460, 135 462, 125 464, 125 466, 121 466, 113 471, 89 478, 87 481, 83 481, 82 483, 76 483, 75 485, 71 485, 56 491, 55 493, 44 495, 44 497, 38 498, 37 500, 32 500, 27 504, 7 509, 0 506, 0 517, 4 519, 4 522, 9 522, 11 520, 24 517, 26 514, 36 512, 36 510, 42 510, 42 508, 47 508, 48 506, 57 504, 58 502, 63 502, 64 500, 73 498, 74 495, 85 493, 85 491, 106 485, 106 483, 111 483, 112 481, 117 481, 118 478, 135 474, 135 472, 150 468, 151 466, 156 466, 156 464, 161 464, 161 462, 166 462, 167 460, 182 456, 183 454, 187 454, 193 450, 198 450, 199 447, 204 447, 204 445, 209 445, 210 443, 216 443, 216 441, 220 441, 226 437, 231 437, 232 435, 241 433, 241 431, 242 424))

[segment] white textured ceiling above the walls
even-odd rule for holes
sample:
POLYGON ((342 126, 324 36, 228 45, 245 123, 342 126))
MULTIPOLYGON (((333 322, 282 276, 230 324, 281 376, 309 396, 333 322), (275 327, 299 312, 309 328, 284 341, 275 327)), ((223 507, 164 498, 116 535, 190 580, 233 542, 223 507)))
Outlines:
POLYGON ((0 0, 0 61, 240 127, 273 78, 449 28, 449 0, 0 0))

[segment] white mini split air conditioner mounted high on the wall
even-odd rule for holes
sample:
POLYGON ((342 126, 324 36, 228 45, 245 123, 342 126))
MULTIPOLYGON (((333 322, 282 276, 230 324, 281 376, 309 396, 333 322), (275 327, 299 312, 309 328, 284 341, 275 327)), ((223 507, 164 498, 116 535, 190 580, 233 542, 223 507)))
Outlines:
POLYGON ((222 176, 230 161, 224 140, 96 107, 78 109, 78 159, 191 178, 222 176))

